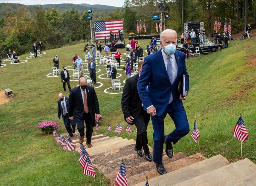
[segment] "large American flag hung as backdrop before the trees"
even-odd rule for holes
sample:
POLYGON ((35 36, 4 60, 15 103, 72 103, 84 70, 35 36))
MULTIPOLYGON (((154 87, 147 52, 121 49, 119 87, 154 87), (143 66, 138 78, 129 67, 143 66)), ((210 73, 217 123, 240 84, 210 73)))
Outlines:
POLYGON ((124 32, 123 20, 106 20, 95 21, 95 39, 98 41, 105 40, 105 36, 109 36, 109 32, 118 34, 119 29, 124 32))

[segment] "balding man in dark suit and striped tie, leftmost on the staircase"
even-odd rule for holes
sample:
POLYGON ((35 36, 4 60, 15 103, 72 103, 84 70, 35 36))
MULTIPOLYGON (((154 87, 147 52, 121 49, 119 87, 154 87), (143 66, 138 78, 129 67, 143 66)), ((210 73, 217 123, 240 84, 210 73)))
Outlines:
POLYGON ((76 132, 76 122, 75 120, 70 121, 68 113, 69 113, 69 107, 68 107, 68 97, 64 97, 62 93, 59 93, 58 95, 59 100, 58 103, 58 119, 63 119, 65 128, 67 129, 68 134, 70 137, 73 137, 73 134, 76 132), (70 124, 72 126, 72 129, 70 127, 70 124))

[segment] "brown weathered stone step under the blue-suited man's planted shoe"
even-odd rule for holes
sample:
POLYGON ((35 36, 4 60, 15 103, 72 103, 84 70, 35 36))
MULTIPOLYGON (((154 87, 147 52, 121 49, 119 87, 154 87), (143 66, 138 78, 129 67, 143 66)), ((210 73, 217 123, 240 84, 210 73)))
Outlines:
MULTIPOLYGON (((165 152, 164 152, 165 153, 165 152)), ((180 153, 177 153, 177 155, 180 154, 180 153)), ((182 153, 183 154, 183 153, 182 153)), ((191 156, 189 157, 183 157, 183 158, 180 158, 180 157, 177 157, 175 158, 175 155, 172 157, 172 158, 169 158, 168 157, 168 160, 170 162, 166 162, 164 160, 164 157, 166 156, 163 156, 163 166, 165 167, 167 173, 168 172, 171 172, 171 171, 175 171, 177 169, 180 169, 180 168, 183 168, 185 166, 189 166, 193 163, 197 163, 197 162, 200 162, 202 160, 205 160, 207 159, 206 157, 204 157, 202 154, 200 153, 197 153, 197 154, 192 154, 191 156)), ((180 155, 182 156, 182 155, 180 155)), ((145 171, 142 171, 140 174, 137 174, 133 177, 130 177, 129 179, 129 184, 130 185, 135 185, 137 183, 140 183, 140 182, 143 182, 145 181, 146 179, 146 175, 148 175, 148 178, 151 179, 151 178, 154 178, 154 177, 158 177, 160 176, 160 174, 157 172, 157 168, 155 166, 155 164, 151 164, 151 165, 146 165, 143 170, 145 171)))

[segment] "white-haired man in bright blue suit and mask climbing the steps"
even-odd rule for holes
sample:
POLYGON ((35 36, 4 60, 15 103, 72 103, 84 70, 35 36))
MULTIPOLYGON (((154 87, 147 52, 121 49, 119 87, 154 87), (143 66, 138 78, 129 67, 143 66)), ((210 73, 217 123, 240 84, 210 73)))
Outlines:
POLYGON ((154 134, 154 163, 160 174, 166 174, 163 166, 163 143, 166 154, 172 157, 173 147, 180 138, 189 133, 189 123, 181 100, 185 100, 189 91, 189 75, 186 71, 185 54, 176 51, 177 33, 166 29, 160 34, 162 49, 145 58, 137 88, 140 99, 151 115, 154 134), (182 97, 178 84, 186 75, 186 95, 182 97), (148 92, 147 87, 148 86, 148 92), (164 118, 171 116, 175 130, 164 135, 164 118))

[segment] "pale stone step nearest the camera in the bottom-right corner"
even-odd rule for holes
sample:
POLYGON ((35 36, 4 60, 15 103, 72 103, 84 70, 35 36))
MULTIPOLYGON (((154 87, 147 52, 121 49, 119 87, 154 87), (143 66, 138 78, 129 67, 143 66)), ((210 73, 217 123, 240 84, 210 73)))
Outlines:
POLYGON ((175 186, 234 185, 237 180, 253 173, 256 173, 256 164, 246 158, 177 183, 175 186))

